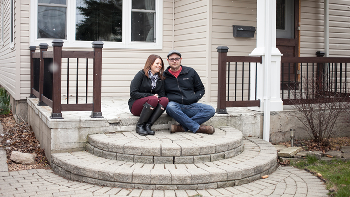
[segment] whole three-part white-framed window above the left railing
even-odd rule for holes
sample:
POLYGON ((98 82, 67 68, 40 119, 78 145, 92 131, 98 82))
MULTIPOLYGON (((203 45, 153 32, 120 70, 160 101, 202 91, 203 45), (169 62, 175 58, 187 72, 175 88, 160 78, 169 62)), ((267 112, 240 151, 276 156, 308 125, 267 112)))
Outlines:
POLYGON ((31 45, 162 49, 163 0, 31 0, 31 45))

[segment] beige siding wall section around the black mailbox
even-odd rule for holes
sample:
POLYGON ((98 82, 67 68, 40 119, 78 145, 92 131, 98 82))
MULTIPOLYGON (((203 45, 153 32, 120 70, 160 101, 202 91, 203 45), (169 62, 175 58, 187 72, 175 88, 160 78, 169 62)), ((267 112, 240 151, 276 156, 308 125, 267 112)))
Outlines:
MULTIPOLYGON (((248 56, 256 47, 256 32, 254 38, 233 37, 232 25, 245 25, 256 27, 256 0, 213 0, 212 6, 212 45, 211 45, 211 97, 210 101, 217 101, 217 81, 218 81, 218 46, 227 46, 231 56, 248 56)), ((232 67, 231 67, 232 69, 232 67)), ((242 76, 241 72, 238 74, 242 76)), ((246 70, 246 69, 245 69, 246 70)), ((233 72, 230 73, 234 75, 233 72)), ((248 72, 244 72, 248 76, 248 72)), ((233 83, 230 79, 230 100, 232 100, 233 83)), ((238 78, 242 81, 242 78, 238 78)), ((248 80, 244 80, 244 89, 248 87, 248 80)), ((239 95, 242 90, 242 85, 238 85, 239 95)), ((247 93, 247 91, 244 91, 247 93)), ((239 99, 238 99, 239 100, 239 99)))

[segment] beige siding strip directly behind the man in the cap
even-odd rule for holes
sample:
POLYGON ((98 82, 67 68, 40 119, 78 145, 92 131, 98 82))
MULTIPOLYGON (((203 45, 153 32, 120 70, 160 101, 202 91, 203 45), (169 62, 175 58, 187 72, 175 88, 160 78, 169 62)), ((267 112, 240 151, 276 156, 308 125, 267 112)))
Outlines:
MULTIPOLYGON (((208 0, 175 0, 174 49, 182 53, 182 65, 194 68, 207 90, 208 0)), ((206 99, 208 92, 202 100, 206 99)))

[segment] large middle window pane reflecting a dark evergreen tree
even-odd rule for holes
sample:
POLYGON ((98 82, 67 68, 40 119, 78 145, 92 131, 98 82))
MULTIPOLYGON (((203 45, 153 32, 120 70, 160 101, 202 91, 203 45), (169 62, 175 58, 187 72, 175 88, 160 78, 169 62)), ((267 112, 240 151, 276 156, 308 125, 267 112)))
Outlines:
POLYGON ((76 40, 122 41, 123 0, 76 0, 76 40))

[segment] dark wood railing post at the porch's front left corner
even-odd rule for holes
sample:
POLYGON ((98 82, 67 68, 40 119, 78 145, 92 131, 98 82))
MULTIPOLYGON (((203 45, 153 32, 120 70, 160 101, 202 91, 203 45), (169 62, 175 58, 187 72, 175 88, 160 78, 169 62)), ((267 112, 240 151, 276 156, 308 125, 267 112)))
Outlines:
POLYGON ((52 113, 51 119, 62 119, 61 113, 61 63, 62 63, 62 40, 53 40, 52 61, 52 113))

